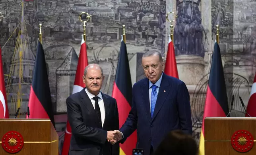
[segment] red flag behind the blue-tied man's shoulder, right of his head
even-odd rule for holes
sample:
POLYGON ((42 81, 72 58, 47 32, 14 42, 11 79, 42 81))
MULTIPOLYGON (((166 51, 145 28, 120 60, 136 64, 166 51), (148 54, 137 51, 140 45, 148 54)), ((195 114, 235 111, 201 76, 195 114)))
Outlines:
POLYGON ((176 64, 176 58, 175 58, 175 50, 173 41, 171 40, 169 36, 169 44, 168 44, 168 51, 165 61, 165 74, 168 76, 176 77, 178 78, 178 69, 176 64))

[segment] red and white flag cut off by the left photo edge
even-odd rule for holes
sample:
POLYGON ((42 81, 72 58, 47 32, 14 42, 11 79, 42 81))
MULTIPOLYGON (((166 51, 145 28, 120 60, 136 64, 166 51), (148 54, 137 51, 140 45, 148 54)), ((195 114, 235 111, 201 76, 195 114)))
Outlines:
POLYGON ((0 118, 9 118, 8 104, 4 83, 4 69, 2 63, 2 51, 0 47, 0 118))

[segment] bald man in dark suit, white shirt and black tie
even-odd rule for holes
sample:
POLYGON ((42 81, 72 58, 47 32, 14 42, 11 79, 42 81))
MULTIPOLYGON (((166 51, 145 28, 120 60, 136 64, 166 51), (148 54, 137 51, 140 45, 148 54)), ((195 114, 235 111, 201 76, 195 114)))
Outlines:
POLYGON ((69 155, 119 155, 119 144, 109 142, 119 129, 117 104, 101 93, 103 79, 102 68, 89 64, 83 76, 86 88, 66 100, 72 130, 69 155))

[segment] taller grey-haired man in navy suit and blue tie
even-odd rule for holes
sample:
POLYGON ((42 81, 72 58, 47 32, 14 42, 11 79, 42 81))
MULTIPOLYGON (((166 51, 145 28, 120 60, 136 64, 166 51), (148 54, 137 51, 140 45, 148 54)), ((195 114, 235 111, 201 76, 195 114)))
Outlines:
POLYGON ((137 129, 137 147, 144 149, 144 155, 150 155, 171 130, 192 135, 190 98, 183 81, 163 73, 159 52, 144 53, 142 66, 147 78, 132 88, 132 109, 117 131, 116 141, 124 143, 137 129))

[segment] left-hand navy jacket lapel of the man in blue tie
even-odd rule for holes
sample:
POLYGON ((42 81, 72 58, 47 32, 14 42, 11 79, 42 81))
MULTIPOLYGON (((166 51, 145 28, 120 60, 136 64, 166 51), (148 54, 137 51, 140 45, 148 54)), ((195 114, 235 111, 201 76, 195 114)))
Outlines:
POLYGON ((142 93, 142 102, 144 104, 145 110, 146 110, 146 115, 147 118, 149 120, 149 122, 151 122, 151 112, 150 112, 150 104, 149 104, 149 80, 147 78, 145 78, 144 80, 144 86, 141 87, 140 92, 142 93))

